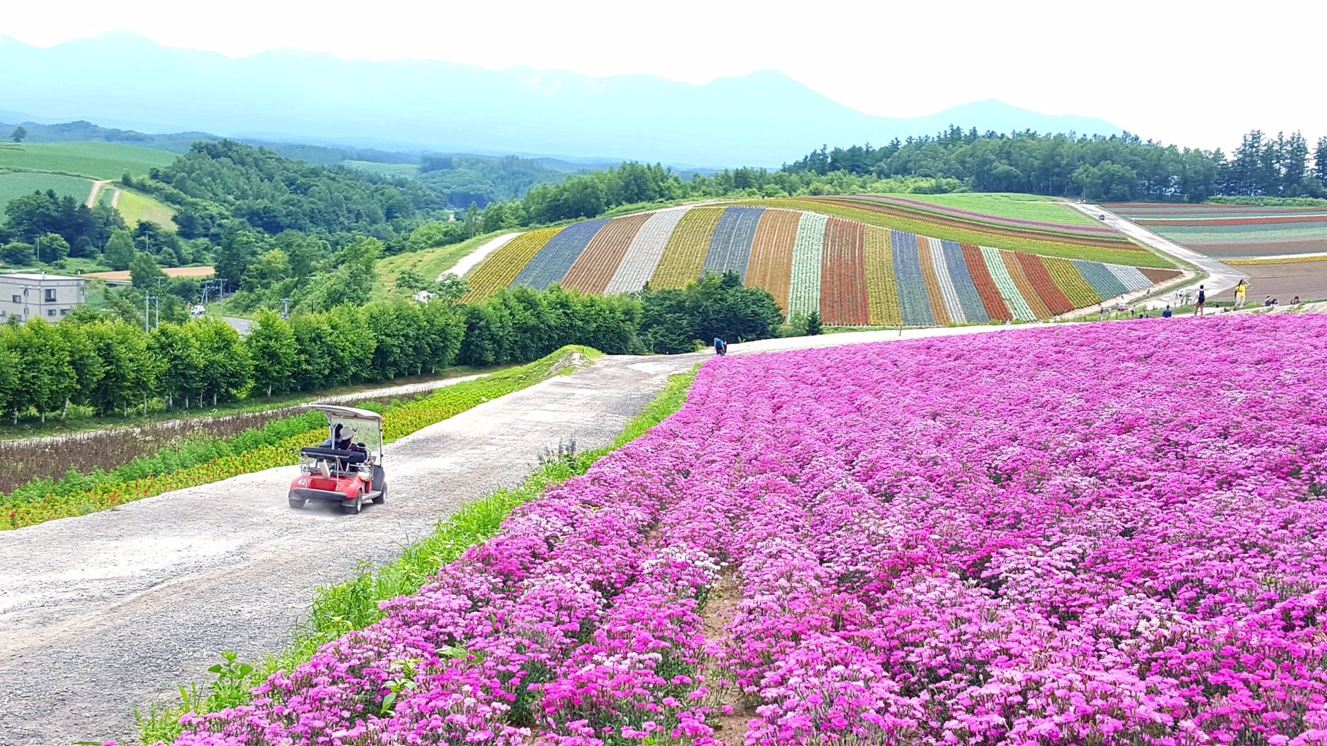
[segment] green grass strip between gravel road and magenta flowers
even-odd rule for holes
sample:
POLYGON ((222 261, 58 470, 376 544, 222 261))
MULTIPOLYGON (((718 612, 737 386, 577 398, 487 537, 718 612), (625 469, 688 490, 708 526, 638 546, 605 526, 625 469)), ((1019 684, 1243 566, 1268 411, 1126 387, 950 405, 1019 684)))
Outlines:
POLYGON ((539 498, 547 487, 579 477, 601 457, 644 435, 650 427, 682 408, 695 381, 699 365, 690 373, 669 377, 669 382, 640 415, 628 423, 613 443, 587 453, 545 454, 539 467, 514 488, 498 488, 487 498, 464 504, 450 518, 438 522, 433 534, 407 546, 401 558, 341 583, 318 588, 313 593, 308 620, 295 631, 291 644, 277 654, 256 664, 226 661, 226 672, 244 670, 240 677, 218 676, 207 688, 196 684, 179 688, 179 701, 167 706, 153 704, 143 713, 135 708, 143 743, 173 741, 180 733, 179 718, 186 713, 214 713, 252 701, 249 689, 261 685, 277 670, 293 670, 308 661, 317 648, 354 629, 364 629, 382 617, 381 601, 407 596, 433 576, 439 567, 498 534, 512 508, 539 498), (242 669, 239 666, 249 666, 242 669))

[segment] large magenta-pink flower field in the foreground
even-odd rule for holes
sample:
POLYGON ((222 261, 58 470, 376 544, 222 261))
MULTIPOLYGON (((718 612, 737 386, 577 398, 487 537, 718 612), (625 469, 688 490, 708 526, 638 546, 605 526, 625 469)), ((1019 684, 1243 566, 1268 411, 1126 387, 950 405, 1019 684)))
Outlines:
POLYGON ((178 743, 1324 743, 1324 450, 1322 317, 715 358, 178 743))

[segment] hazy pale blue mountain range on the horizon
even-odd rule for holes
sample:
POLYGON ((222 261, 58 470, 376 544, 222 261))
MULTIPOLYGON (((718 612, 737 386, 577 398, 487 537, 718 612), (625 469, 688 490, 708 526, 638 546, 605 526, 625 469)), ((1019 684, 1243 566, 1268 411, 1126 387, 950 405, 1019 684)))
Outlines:
POLYGON ((778 166, 820 143, 885 143, 949 125, 1119 134, 1103 119, 989 100, 913 118, 873 117, 759 70, 705 85, 656 76, 275 50, 232 58, 113 32, 52 48, 0 36, 0 119, 88 119, 384 150, 778 166))

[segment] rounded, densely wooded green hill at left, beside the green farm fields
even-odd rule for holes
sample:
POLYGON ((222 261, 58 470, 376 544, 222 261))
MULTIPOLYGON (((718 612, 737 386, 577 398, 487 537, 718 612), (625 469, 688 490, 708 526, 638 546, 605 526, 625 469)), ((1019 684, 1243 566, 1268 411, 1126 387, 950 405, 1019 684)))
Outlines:
POLYGON ((145 186, 179 206, 175 223, 184 238, 207 235, 230 218, 273 235, 402 231, 443 207, 438 195, 407 179, 314 166, 226 139, 194 143, 167 169, 153 170, 145 186))

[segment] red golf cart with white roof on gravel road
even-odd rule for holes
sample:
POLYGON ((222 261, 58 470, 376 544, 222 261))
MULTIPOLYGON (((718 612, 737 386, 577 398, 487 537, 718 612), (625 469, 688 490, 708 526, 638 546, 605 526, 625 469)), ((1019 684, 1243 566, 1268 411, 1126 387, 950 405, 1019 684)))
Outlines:
POLYGON ((300 449, 300 475, 291 482, 291 507, 308 500, 340 503, 357 514, 365 500, 387 502, 386 473, 382 470, 382 415, 353 406, 307 404, 304 409, 328 418, 328 439, 300 449))

